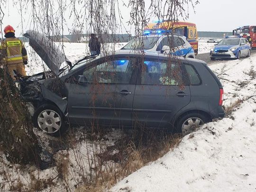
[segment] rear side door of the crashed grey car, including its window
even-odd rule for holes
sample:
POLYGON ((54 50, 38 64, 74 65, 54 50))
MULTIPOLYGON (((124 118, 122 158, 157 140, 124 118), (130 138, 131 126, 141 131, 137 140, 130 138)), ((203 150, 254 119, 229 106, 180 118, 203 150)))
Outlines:
POLYGON ((190 88, 183 81, 182 64, 152 58, 139 62, 133 125, 170 127, 176 112, 191 100, 190 88))

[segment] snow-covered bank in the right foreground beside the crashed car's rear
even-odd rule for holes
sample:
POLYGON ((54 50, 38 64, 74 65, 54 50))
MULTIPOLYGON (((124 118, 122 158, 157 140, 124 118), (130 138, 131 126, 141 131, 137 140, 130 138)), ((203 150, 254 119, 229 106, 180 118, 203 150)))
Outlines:
POLYGON ((111 192, 241 192, 256 190, 256 56, 220 61, 218 75, 229 106, 243 100, 229 117, 183 137, 164 157, 114 186, 111 192))

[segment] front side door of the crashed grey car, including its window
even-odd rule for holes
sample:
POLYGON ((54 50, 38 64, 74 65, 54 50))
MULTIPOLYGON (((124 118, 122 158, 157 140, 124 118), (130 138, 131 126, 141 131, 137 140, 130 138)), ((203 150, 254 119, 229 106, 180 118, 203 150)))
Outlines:
POLYGON ((135 58, 102 58, 73 75, 70 122, 130 126, 137 69, 135 58))

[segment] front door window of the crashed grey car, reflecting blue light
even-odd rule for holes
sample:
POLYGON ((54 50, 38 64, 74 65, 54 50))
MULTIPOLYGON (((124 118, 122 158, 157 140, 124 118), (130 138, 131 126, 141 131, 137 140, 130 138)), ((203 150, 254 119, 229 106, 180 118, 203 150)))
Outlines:
POLYGON ((132 75, 132 60, 128 58, 104 61, 100 65, 85 69, 79 78, 88 83, 128 84, 132 75))

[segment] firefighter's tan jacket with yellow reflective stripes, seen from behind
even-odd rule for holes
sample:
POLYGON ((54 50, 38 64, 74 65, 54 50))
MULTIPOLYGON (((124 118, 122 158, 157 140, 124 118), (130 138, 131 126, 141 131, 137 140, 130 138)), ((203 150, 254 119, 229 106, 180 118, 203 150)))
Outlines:
POLYGON ((27 50, 23 42, 16 37, 6 38, 3 41, 1 52, 7 64, 23 63, 27 61, 27 50))

